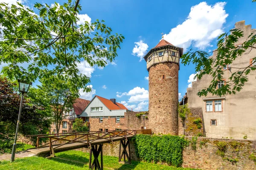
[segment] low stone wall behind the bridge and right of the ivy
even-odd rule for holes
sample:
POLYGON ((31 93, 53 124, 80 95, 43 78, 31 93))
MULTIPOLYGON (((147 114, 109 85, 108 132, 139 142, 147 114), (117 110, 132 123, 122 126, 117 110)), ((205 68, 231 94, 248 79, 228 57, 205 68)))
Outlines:
MULTIPOLYGON (((187 140, 192 139, 192 137, 187 136, 185 138, 187 140)), ((202 170, 256 170, 256 164, 249 159, 251 153, 256 153, 256 141, 198 137, 196 145, 196 150, 192 150, 191 144, 183 150, 183 167, 199 168, 202 170), (201 142, 204 144, 200 147, 201 142), (218 150, 216 143, 218 142, 227 143, 224 158, 216 154, 218 150), (234 148, 232 144, 237 146, 234 148), (238 161, 235 163, 227 158, 230 160, 238 159, 238 161)), ((83 150, 89 152, 87 148, 83 150)), ((104 144, 103 154, 118 157, 119 142, 104 144)), ((131 159, 139 160, 132 142, 131 159)))

